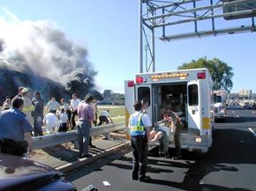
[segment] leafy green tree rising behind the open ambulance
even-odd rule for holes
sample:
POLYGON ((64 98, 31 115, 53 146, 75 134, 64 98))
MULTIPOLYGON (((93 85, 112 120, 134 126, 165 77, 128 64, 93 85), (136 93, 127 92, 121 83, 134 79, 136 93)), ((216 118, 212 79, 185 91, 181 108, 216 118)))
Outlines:
POLYGON ((233 68, 218 58, 207 60, 207 57, 202 57, 197 61, 192 60, 192 62, 183 63, 178 67, 178 70, 199 68, 207 68, 210 71, 214 81, 214 90, 225 90, 230 92, 233 87, 233 68))

